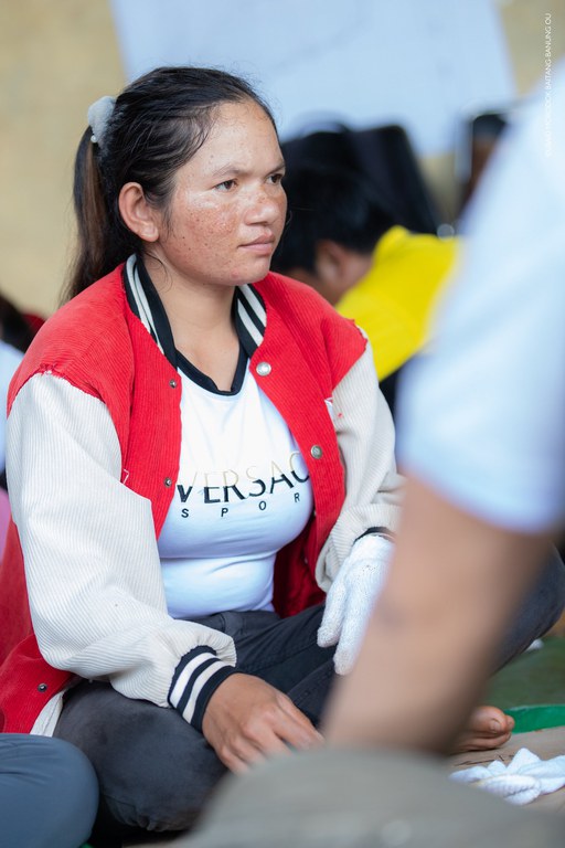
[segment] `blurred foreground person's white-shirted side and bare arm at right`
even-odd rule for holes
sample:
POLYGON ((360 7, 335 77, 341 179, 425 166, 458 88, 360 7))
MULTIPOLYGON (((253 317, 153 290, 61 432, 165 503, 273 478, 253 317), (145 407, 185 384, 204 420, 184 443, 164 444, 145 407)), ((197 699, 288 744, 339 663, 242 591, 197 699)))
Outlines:
POLYGON ((524 108, 487 173, 457 285, 403 385, 404 530, 360 661, 334 703, 337 740, 367 739, 373 728, 375 741, 399 742, 406 716, 396 707, 393 719, 392 703, 409 666, 406 744, 445 750, 483 685, 504 621, 564 529, 565 66, 524 108), (353 721, 353 693, 366 664, 384 661, 375 651, 388 627, 394 681, 379 704, 365 689, 372 716, 363 721, 356 701, 353 721))

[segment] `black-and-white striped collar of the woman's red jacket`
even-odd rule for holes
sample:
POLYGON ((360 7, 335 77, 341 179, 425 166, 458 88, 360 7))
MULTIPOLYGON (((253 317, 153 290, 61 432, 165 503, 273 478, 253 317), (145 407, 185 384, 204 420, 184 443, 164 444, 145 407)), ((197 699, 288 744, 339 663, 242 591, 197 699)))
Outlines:
MULTIPOLYGON (((177 350, 167 312, 143 261, 137 254, 132 254, 126 263, 124 283, 130 309, 169 362, 177 368, 177 350)), ((233 310, 239 343, 250 359, 262 343, 267 328, 265 301, 254 286, 237 286, 233 310)))

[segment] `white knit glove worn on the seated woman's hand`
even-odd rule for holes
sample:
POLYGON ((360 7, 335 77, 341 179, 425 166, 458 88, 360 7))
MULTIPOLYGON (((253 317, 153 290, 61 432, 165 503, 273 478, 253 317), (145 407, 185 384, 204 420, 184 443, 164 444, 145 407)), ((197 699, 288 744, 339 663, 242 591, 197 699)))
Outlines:
POLYGON ((318 645, 338 644, 333 657, 338 675, 347 675, 353 667, 393 550, 393 543, 382 536, 361 537, 330 586, 318 645))

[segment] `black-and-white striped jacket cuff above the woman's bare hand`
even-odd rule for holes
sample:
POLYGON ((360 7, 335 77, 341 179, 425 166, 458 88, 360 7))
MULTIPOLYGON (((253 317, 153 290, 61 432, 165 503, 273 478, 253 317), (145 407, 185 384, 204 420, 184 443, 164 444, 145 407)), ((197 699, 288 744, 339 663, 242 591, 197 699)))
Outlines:
POLYGON ((207 702, 220 683, 233 674, 236 669, 218 659, 212 648, 194 648, 177 666, 168 701, 184 721, 202 733, 207 702))

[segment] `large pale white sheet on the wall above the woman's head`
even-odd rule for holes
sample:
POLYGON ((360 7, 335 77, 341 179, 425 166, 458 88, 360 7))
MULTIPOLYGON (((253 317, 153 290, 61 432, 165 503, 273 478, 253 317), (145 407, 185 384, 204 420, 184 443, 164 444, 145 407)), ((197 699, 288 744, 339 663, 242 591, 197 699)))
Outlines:
POLYGON ((250 78, 288 138, 323 120, 399 123, 451 150, 461 114, 512 103, 492 0, 111 0, 129 80, 160 64, 250 78))

